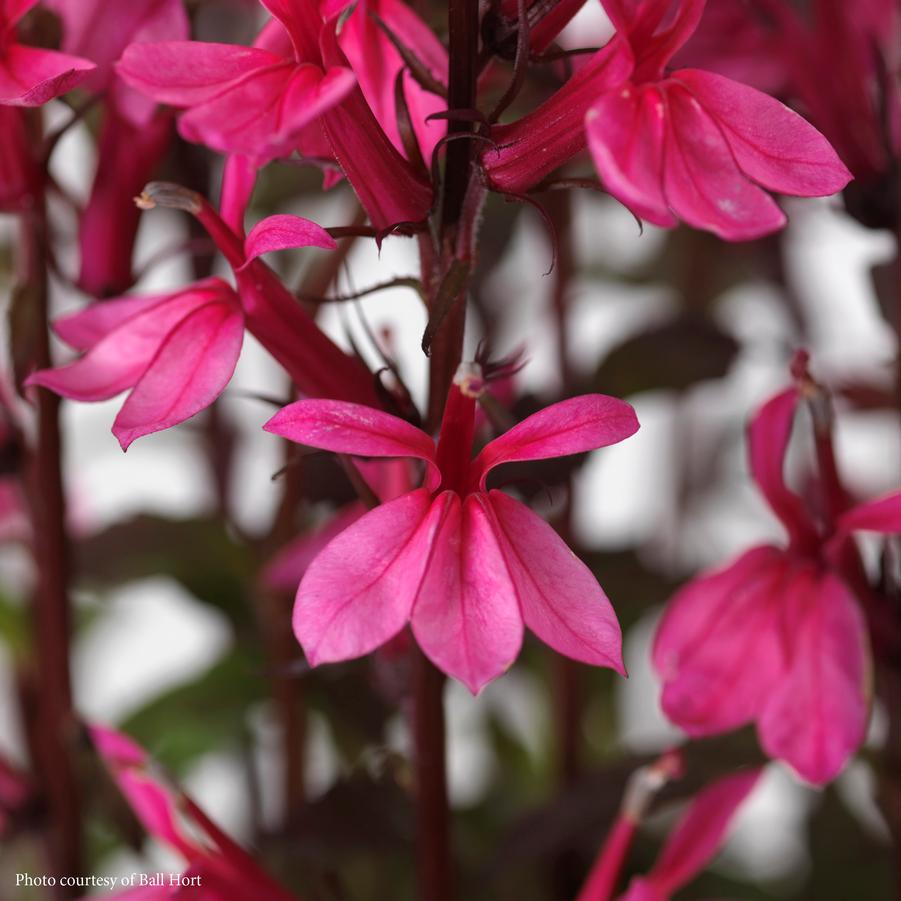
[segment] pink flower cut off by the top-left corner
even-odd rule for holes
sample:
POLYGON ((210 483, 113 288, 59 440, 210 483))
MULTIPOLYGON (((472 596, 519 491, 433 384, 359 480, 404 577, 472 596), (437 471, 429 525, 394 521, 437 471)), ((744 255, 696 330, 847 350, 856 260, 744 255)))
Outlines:
POLYGON ((0 0, 0 104, 42 106, 71 91, 94 64, 78 56, 16 42, 16 23, 38 0, 0 0))

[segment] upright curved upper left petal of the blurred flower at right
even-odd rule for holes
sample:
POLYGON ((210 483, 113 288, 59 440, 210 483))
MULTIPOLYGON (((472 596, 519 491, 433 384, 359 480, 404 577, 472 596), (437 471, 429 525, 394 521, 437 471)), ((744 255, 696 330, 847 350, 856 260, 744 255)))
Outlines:
POLYGON ((767 401, 748 428, 748 453, 751 475, 773 512, 793 540, 804 540, 813 534, 813 524, 801 498, 786 486, 783 474, 797 407, 796 388, 767 401))

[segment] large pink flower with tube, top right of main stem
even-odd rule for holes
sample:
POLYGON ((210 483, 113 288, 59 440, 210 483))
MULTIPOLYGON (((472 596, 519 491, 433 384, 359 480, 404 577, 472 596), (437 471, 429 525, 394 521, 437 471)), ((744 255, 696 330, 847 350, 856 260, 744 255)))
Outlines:
POLYGON ((850 173, 828 142, 772 97, 698 69, 665 73, 704 4, 680 0, 669 15, 660 0, 605 0, 617 35, 545 104, 495 130, 499 150, 483 154, 492 185, 522 193, 587 138, 604 188, 635 215, 727 240, 785 224, 764 189, 841 190, 850 173))

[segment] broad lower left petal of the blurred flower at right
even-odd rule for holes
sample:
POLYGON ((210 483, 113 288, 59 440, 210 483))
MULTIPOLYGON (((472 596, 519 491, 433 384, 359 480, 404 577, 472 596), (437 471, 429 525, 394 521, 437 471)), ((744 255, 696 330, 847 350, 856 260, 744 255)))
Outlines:
POLYGON ((779 620, 787 559, 755 548, 676 594, 654 639, 663 712, 689 735, 753 720, 787 668, 779 620))

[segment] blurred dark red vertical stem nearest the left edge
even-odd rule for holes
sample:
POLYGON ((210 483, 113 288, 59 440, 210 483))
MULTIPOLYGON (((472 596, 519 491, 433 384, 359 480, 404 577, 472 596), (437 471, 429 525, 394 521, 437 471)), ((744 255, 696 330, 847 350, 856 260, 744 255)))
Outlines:
MULTIPOLYGON (((48 232, 43 196, 23 218, 21 279, 34 313, 34 366, 50 360, 48 317, 48 232)), ((69 672, 69 543, 62 477, 59 398, 37 389, 37 440, 28 465, 27 491, 34 526, 38 585, 34 606, 37 662, 37 768, 47 796, 50 867, 59 877, 81 870, 79 792, 73 761, 75 718, 69 672)), ((57 888, 69 898, 74 889, 57 888)))

